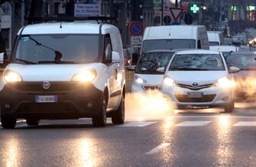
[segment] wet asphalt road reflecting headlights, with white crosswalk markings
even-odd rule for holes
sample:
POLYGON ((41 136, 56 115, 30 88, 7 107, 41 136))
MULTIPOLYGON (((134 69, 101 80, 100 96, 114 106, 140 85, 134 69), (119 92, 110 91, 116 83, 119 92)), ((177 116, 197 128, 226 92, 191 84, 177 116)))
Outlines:
POLYGON ((0 129, 0 166, 256 166, 256 109, 204 112, 105 128, 88 119, 20 120, 0 129))

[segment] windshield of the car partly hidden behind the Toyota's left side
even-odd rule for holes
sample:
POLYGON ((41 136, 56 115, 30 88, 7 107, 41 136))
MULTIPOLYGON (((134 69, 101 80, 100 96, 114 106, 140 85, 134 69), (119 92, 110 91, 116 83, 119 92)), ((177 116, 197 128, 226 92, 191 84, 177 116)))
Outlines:
POLYGON ((136 73, 159 74, 157 69, 167 67, 173 53, 145 53, 141 56, 136 73))

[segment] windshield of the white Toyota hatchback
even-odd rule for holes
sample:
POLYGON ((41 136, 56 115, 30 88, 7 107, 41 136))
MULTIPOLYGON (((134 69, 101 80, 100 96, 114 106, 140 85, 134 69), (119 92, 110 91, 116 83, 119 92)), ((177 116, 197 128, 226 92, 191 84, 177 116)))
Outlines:
POLYGON ((170 71, 222 71, 225 66, 219 54, 177 54, 170 71))

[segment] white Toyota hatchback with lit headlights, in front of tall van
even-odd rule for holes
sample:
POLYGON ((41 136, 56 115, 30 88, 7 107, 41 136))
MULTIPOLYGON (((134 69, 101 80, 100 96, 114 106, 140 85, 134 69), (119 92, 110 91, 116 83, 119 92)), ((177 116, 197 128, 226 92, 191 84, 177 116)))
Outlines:
MULTIPOLYGON (((158 69, 164 72, 164 68, 158 69)), ((236 67, 228 68, 222 53, 210 50, 178 51, 170 60, 161 91, 177 108, 234 109, 233 78, 236 67)))

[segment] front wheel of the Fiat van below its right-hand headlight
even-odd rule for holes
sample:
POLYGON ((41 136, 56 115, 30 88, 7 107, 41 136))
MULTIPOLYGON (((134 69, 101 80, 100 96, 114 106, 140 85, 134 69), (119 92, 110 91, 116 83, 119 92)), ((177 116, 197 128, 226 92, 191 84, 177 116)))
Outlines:
POLYGON ((105 127, 107 122, 107 101, 106 98, 102 98, 102 104, 99 108, 99 114, 96 117, 92 117, 93 127, 105 127))

